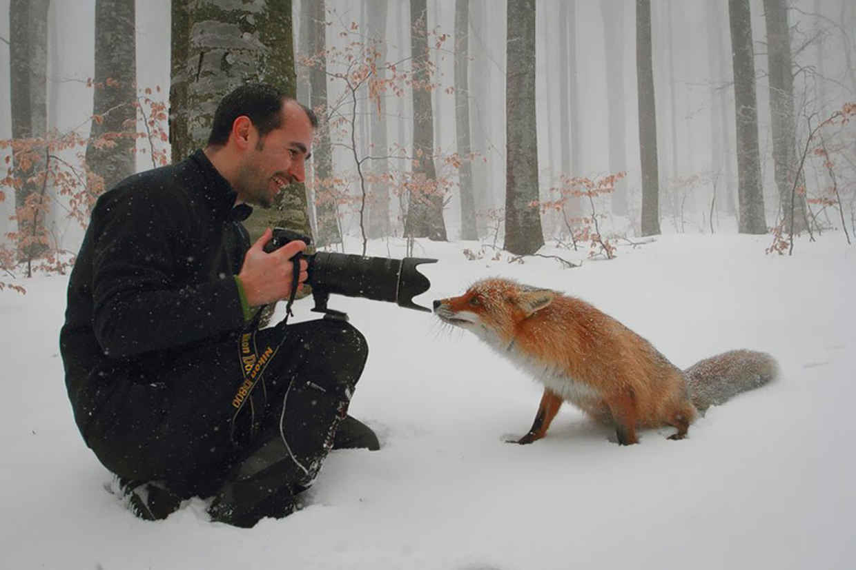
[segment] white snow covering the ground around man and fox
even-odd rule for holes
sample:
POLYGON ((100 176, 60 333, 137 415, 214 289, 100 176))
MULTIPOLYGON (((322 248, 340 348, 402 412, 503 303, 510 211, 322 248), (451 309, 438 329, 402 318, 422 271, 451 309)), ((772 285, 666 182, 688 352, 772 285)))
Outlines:
MULTIPOLYGON (((540 386, 431 314, 334 296, 371 347, 351 413, 382 449, 333 452, 302 510, 253 529, 211 523, 201 499, 138 520, 105 491, 110 474, 63 385, 68 278, 26 279, 26 296, 0 292, 2 566, 853 567, 856 246, 831 232, 768 256, 769 240, 659 236, 574 269, 491 261, 493 250, 467 261, 462 250, 479 244, 419 242, 415 256, 440 260, 419 266, 432 284, 419 304, 509 277, 586 299, 680 367, 749 348, 776 356, 782 376, 710 408, 679 442, 648 430, 621 447, 565 405, 543 440, 506 444, 531 425, 540 386)), ((370 246, 404 256, 400 240, 370 246)), ((309 309, 295 303, 296 318, 314 318, 309 309)))

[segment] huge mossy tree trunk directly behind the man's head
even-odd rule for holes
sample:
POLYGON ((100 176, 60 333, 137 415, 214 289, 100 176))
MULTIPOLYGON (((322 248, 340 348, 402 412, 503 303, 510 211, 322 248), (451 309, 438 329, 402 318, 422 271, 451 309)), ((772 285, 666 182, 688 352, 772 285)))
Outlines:
MULTIPOLYGON (((184 10, 176 5, 182 3, 173 0, 174 15, 184 10)), ((177 38, 183 38, 182 30, 188 32, 186 52, 175 38, 172 47, 176 99, 170 94, 170 105, 187 120, 185 138, 173 147, 174 161, 184 157, 177 151, 205 146, 217 104, 238 85, 267 83, 296 96, 290 0, 197 0, 188 6, 187 23, 174 24, 174 29, 183 26, 177 38), (184 90, 186 100, 180 101, 177 96, 184 90)), ((245 225, 253 239, 267 226, 311 234, 303 185, 288 185, 275 207, 255 208, 245 225)))

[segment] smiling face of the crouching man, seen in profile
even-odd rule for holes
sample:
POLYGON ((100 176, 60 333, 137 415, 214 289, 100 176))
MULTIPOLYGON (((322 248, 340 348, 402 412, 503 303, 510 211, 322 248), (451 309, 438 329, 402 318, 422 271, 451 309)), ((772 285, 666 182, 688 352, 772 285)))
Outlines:
POLYGON ((312 123, 300 105, 285 103, 282 126, 259 138, 251 127, 250 147, 238 171, 235 190, 241 202, 269 207, 282 186, 306 179, 312 148, 312 123))

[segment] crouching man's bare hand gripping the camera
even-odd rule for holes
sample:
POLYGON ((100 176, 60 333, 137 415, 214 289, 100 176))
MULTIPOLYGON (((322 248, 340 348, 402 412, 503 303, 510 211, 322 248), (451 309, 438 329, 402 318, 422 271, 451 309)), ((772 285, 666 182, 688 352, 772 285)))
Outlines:
MULTIPOLYGON (((294 280, 294 261, 291 261, 291 258, 297 252, 306 250, 306 244, 295 240, 272 253, 265 253, 262 248, 272 236, 273 232, 269 227, 247 251, 241 273, 238 273, 241 285, 244 286, 244 293, 247 295, 247 303, 251 307, 287 299, 291 295, 291 285, 294 280)), ((307 277, 306 260, 301 259, 298 291, 307 277)))

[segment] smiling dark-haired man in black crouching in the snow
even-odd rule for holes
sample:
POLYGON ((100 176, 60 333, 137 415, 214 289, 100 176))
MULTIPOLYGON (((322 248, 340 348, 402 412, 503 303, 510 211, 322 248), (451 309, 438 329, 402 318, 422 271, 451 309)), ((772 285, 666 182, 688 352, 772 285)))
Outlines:
POLYGON ((294 508, 331 447, 377 449, 346 415, 368 349, 348 323, 260 331, 253 314, 306 280, 306 248, 250 247, 241 226, 302 182, 315 115, 268 85, 223 98, 205 150, 98 199, 60 334, 74 420, 134 511, 213 495, 213 520, 294 508))

